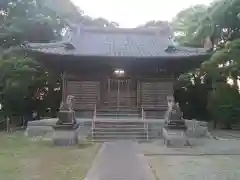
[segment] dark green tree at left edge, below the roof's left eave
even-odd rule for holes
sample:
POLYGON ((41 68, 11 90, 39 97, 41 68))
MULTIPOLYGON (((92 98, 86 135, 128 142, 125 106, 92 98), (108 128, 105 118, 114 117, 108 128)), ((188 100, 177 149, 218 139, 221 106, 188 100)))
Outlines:
POLYGON ((29 58, 1 59, 1 104, 6 116, 23 116, 30 106, 36 64, 29 58))

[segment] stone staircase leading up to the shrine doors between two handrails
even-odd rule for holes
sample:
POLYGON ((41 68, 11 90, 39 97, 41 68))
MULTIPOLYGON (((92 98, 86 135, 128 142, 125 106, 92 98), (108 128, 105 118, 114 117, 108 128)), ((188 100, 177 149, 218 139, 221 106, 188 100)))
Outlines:
POLYGON ((105 108, 96 111, 92 124, 93 141, 116 139, 147 139, 147 126, 142 111, 129 108, 105 108))

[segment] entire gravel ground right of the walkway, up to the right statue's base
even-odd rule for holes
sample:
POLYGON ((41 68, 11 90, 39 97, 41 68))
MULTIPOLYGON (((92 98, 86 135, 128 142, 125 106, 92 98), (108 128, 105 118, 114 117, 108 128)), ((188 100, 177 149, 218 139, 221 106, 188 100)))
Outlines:
MULTIPOLYGON (((220 138, 230 132, 215 133, 220 138)), ((230 134, 233 134, 230 133, 230 134)), ((234 137, 238 135, 234 132, 234 137)), ((240 136, 239 136, 240 137, 240 136)), ((188 148, 167 148, 162 140, 140 143, 157 180, 239 180, 240 140, 191 139, 188 148)))

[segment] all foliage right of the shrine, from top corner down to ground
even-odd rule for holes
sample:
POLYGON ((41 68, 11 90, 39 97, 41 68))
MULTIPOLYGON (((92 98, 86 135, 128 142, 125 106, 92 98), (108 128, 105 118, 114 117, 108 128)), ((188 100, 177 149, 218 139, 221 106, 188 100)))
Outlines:
POLYGON ((203 46, 210 37, 215 51, 199 69, 180 76, 176 99, 184 114, 199 118, 198 112, 205 112, 215 123, 229 128, 240 118, 240 1, 218 0, 209 7, 197 7, 180 12, 173 21, 175 30, 183 32, 178 40, 203 46), (188 12, 193 12, 191 17, 188 12), (195 17, 200 17, 197 22, 195 17), (190 108, 186 109, 186 104, 190 108))

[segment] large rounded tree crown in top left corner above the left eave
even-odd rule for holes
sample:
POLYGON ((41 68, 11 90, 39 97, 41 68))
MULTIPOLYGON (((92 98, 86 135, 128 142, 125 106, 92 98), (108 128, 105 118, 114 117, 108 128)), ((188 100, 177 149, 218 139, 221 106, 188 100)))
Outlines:
POLYGON ((64 27, 54 11, 35 0, 7 0, 0 13, 0 42, 4 48, 24 41, 49 42, 64 27))

